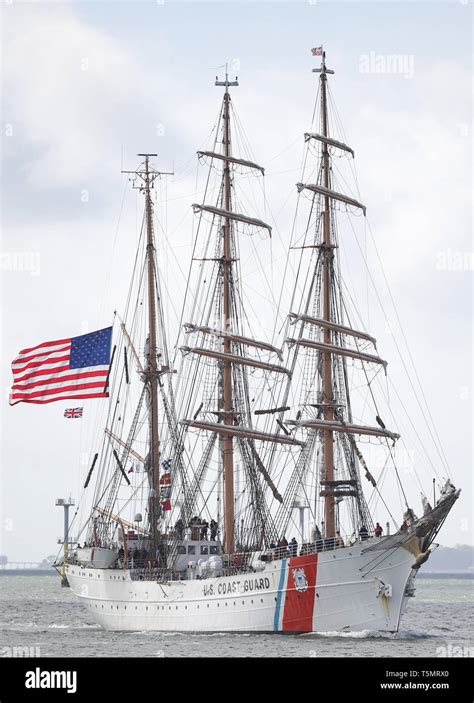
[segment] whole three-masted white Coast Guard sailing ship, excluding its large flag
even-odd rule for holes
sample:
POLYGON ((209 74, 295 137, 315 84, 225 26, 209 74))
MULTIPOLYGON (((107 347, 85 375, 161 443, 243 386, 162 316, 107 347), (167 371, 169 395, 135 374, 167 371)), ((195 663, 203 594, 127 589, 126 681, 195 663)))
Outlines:
POLYGON ((423 496, 417 516, 399 480, 399 435, 376 397, 387 362, 357 324, 341 272, 342 232, 365 206, 338 185, 338 159, 354 152, 335 129, 333 71, 321 56, 315 131, 304 135, 297 184, 299 259, 287 268, 283 324, 271 340, 262 329, 278 326, 277 304, 275 320, 259 324, 252 301, 261 291, 246 290, 272 228, 256 216, 263 190, 251 184, 264 169, 234 111, 237 80, 227 72, 216 80, 218 124, 198 152, 207 176, 192 205, 174 347, 164 314, 173 286, 166 290, 157 255, 156 155, 140 155, 129 172, 144 197, 143 225, 126 309, 114 322, 107 421, 83 498, 90 516, 62 564, 106 629, 397 632, 459 496, 448 479, 437 496, 423 496), (372 445, 391 472, 387 493, 366 453, 372 445), (402 511, 391 507, 394 485, 402 511), (382 504, 395 513, 391 534, 376 521, 382 504))

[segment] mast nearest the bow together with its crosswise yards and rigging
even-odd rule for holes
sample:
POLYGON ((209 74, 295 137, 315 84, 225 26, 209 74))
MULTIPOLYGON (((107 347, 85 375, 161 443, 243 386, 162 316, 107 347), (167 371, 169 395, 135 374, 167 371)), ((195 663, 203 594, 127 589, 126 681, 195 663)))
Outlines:
MULTIPOLYGON (((331 154, 334 151, 343 152, 353 158, 354 152, 329 134, 327 76, 334 71, 326 67, 324 52, 321 52, 321 56, 321 68, 313 69, 313 72, 320 74, 320 132, 304 135, 305 141, 315 140, 320 144, 318 177, 316 182, 297 184, 299 193, 309 191, 312 198, 312 212, 316 213, 316 235, 314 244, 309 248, 317 249, 318 256, 305 305, 299 313, 290 313, 290 325, 299 323, 299 334, 286 339, 290 346, 295 346, 295 355, 301 348, 318 353, 320 391, 315 402, 309 403, 310 407, 317 408, 317 417, 301 417, 300 412, 296 420, 285 422, 290 426, 319 433, 322 446, 319 498, 323 500, 324 537, 335 538, 340 528, 337 506, 345 498, 354 498, 357 503, 358 519, 353 521, 354 529, 362 525, 370 527, 371 518, 360 485, 358 461, 366 471, 366 478, 374 487, 376 484, 357 448, 354 435, 382 437, 393 441, 398 439, 398 435, 387 430, 385 425, 379 422, 378 416, 376 420, 379 427, 355 424, 352 419, 347 358, 357 359, 364 364, 382 365, 384 369, 387 362, 376 354, 366 352, 367 344, 373 344, 374 347, 376 345, 373 337, 353 329, 345 324, 343 319, 346 307, 335 257, 338 246, 335 209, 337 206, 351 210, 355 208, 362 210, 365 215, 366 208, 355 198, 334 190, 331 154), (318 313, 310 313, 311 309, 317 309, 318 313), (305 334, 305 331, 308 334, 305 334), (353 346, 347 345, 348 340, 353 346), (343 468, 344 464, 346 469, 343 468)), ((303 397, 302 405, 306 411, 307 401, 303 400, 303 397)))

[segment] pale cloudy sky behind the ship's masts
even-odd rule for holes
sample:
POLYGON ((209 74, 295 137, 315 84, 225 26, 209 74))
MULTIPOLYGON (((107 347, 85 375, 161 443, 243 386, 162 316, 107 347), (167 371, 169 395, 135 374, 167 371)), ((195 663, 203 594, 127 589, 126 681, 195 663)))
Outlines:
MULTIPOLYGON (((398 314, 463 487, 440 541, 472 543, 472 4, 14 1, 1 15, 0 553, 54 553, 55 499, 77 497, 87 471, 88 406, 84 422, 63 418, 68 403, 10 408, 10 362, 23 347, 106 326, 123 306, 141 201, 122 165, 151 151, 176 172, 160 186, 172 330, 199 198, 194 154, 215 123, 213 82, 229 62, 240 80, 234 103, 267 170, 267 211, 254 214, 275 220, 277 282, 316 91, 310 49, 320 44, 398 314)), ((261 326, 271 337, 273 322, 261 326)), ((404 388, 387 330, 371 332, 404 388)), ((406 405, 416 420, 414 399, 406 405)))

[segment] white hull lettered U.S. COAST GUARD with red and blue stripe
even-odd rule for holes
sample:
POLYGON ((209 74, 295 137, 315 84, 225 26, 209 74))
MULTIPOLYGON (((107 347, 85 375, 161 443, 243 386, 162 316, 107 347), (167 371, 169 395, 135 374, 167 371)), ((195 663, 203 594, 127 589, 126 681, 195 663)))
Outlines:
MULTIPOLYGON (((268 562, 262 571, 202 580, 133 580, 124 569, 68 564, 73 592, 108 630, 395 632, 415 561, 375 539, 268 562)), ((262 564, 263 566, 263 564, 262 564)))

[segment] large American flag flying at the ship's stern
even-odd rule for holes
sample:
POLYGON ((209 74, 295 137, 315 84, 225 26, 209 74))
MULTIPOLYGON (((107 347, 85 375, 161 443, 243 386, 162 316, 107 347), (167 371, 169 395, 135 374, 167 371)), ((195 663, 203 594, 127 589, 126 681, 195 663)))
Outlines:
POLYGON ((22 349, 12 362, 10 405, 107 398, 112 327, 22 349))

